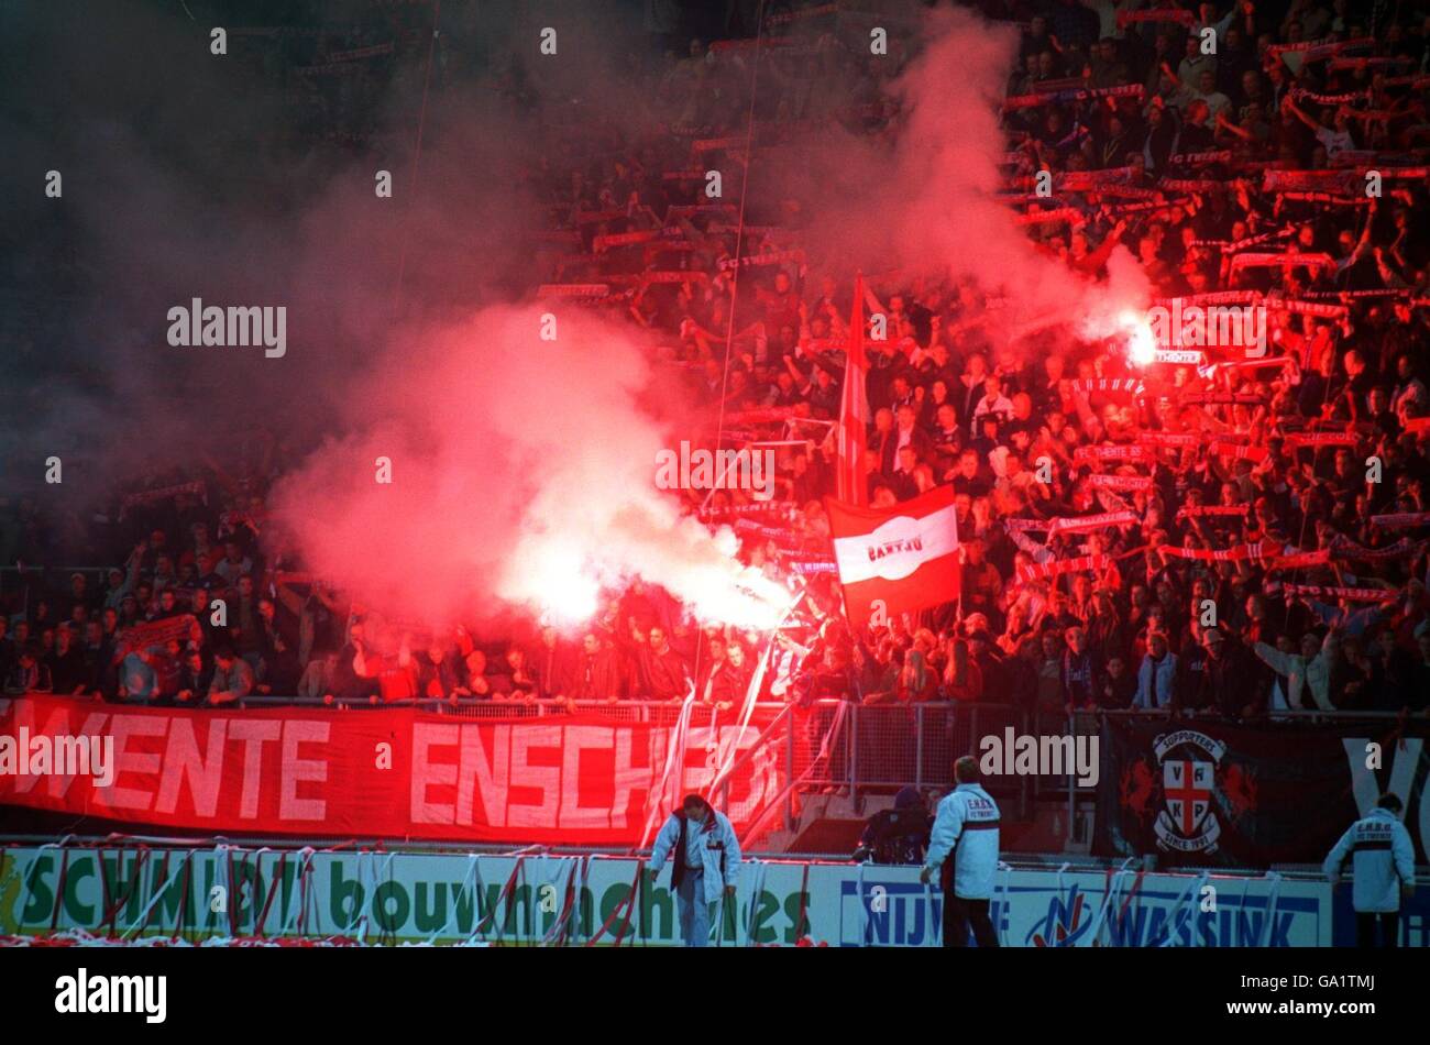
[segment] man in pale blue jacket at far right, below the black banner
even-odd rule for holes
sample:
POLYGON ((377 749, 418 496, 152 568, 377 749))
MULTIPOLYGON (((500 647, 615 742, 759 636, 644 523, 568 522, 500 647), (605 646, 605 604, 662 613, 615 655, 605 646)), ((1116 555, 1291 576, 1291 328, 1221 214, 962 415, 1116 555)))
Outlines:
POLYGON ((1354 856, 1356 946, 1376 946, 1377 921, 1380 945, 1400 945, 1400 898, 1416 888, 1414 846, 1400 822, 1400 809, 1399 798, 1381 795, 1370 815, 1341 835, 1321 866, 1334 886, 1346 858, 1354 856))

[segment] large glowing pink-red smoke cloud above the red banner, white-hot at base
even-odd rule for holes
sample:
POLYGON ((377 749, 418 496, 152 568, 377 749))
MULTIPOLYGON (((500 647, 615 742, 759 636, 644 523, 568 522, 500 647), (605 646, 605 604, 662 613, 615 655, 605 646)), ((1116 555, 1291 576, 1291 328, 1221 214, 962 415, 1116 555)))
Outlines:
POLYGON ((573 622, 599 585, 641 576, 701 615, 774 623, 779 589, 654 489, 674 436, 639 402, 646 349, 566 313, 555 342, 538 339, 532 306, 400 337, 355 392, 363 430, 276 490, 280 525, 313 569, 398 616, 515 605, 573 622), (390 485, 376 482, 378 457, 390 485))

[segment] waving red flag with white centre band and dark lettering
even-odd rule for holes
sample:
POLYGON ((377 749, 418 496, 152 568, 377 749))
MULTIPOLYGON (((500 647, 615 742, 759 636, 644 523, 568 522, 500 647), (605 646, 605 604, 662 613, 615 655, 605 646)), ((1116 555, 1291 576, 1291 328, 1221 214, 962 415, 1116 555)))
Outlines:
POLYGON ((877 610, 904 613, 958 598, 952 486, 884 509, 825 497, 825 509, 851 625, 867 623, 877 610))

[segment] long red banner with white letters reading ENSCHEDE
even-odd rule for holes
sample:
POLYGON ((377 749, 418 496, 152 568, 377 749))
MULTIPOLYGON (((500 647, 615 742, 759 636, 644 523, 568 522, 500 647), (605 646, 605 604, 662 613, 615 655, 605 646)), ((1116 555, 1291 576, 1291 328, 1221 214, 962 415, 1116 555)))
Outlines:
MULTIPOLYGON (((759 729, 676 730, 595 715, 458 719, 413 708, 233 713, 129 708, 31 695, 0 702, 0 736, 112 743, 103 775, 0 775, 0 805, 229 836, 320 835, 621 843, 641 839, 648 803, 671 808, 759 729)), ((749 823, 782 786, 782 749, 734 776, 729 816, 749 823)))

